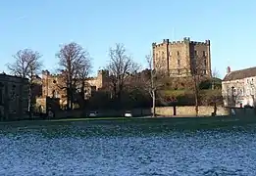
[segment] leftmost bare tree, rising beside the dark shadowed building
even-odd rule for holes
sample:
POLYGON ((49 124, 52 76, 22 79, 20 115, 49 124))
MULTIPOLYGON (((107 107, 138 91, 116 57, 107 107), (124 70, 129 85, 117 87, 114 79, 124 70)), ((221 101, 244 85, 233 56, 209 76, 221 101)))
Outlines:
POLYGON ((7 67, 11 74, 21 76, 23 78, 29 79, 29 111, 33 111, 34 98, 33 84, 36 74, 41 71, 42 62, 40 61, 41 55, 37 51, 32 51, 30 49, 20 50, 14 56, 15 62, 13 64, 8 64, 7 67))

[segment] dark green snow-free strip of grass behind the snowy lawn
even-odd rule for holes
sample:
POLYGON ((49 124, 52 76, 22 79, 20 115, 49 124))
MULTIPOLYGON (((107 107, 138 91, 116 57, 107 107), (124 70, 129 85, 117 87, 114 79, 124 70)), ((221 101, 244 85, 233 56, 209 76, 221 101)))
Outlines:
POLYGON ((25 120, 1 122, 0 129, 8 127, 47 127, 47 126, 128 126, 136 128, 174 128, 174 129, 207 129, 256 123, 256 117, 101 117, 101 118, 67 118, 49 120, 25 120))

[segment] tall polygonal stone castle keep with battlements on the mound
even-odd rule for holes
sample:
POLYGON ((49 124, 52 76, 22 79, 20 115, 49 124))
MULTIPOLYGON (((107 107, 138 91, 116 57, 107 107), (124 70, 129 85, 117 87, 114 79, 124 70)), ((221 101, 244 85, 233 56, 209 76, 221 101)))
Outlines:
POLYGON ((191 75, 196 68, 203 75, 211 76, 210 40, 205 42, 182 41, 170 42, 164 39, 162 43, 152 43, 153 66, 162 69, 168 75, 179 77, 191 75))

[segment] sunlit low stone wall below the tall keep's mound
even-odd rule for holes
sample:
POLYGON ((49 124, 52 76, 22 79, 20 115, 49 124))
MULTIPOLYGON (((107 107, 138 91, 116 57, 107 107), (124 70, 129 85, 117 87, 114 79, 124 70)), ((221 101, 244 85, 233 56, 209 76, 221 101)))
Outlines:
MULTIPOLYGON (((214 107, 199 107, 199 116, 210 116, 214 111, 214 107)), ((177 116, 195 116, 194 106, 176 107, 177 116)), ((156 114, 160 116, 173 116, 174 107, 157 107, 156 114)), ((217 115, 228 115, 230 110, 224 107, 217 108, 217 115)))

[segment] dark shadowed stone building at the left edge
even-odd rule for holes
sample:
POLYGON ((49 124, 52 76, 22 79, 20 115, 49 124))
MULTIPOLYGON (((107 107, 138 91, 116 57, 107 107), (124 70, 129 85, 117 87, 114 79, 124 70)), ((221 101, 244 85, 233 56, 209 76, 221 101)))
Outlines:
POLYGON ((23 119, 28 110, 28 79, 0 74, 0 119, 23 119))

